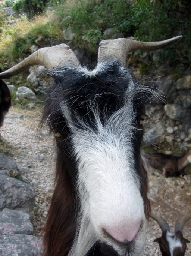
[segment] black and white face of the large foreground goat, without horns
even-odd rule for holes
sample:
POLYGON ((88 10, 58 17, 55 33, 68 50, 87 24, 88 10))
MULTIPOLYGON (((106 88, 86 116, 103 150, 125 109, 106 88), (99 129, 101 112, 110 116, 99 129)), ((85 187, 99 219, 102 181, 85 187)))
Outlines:
POLYGON ((70 255, 85 255, 97 241, 118 255, 138 255, 149 209, 140 142, 150 89, 119 63, 51 75, 45 116, 66 161, 75 163, 69 173, 81 224, 70 255))

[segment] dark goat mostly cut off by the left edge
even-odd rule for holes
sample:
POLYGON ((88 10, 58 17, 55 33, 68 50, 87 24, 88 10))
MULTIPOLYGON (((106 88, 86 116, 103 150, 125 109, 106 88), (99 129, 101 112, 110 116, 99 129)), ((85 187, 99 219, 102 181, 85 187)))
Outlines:
MULTIPOLYGON (((0 68, 0 73, 3 70, 0 68)), ((4 117, 11 106, 11 95, 9 88, 3 80, 0 80, 0 127, 3 125, 4 117)))

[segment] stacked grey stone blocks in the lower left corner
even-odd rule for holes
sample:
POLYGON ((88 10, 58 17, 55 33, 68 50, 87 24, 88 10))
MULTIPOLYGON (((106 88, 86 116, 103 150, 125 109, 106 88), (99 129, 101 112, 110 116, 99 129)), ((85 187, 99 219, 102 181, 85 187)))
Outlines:
POLYGON ((22 181, 16 163, 3 153, 0 153, 0 195, 0 255, 41 256, 41 239, 33 235, 30 220, 35 190, 22 181))

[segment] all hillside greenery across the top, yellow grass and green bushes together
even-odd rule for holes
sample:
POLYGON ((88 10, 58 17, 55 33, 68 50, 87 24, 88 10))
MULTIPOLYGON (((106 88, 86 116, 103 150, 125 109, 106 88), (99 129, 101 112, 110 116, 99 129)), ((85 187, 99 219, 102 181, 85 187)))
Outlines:
MULTIPOLYGON (((14 9, 23 10, 31 18, 47 5, 54 6, 54 15, 51 13, 46 22, 37 20, 36 24, 28 25, 25 33, 20 33, 18 27, 4 29, 4 38, 9 41, 9 36, 13 38, 9 49, 1 49, 4 57, 9 56, 11 60, 24 57, 40 36, 63 42, 62 31, 69 28, 75 36, 66 43, 86 50, 93 59, 103 39, 133 36, 137 40, 155 41, 183 34, 184 39, 178 44, 156 52, 156 64, 164 60, 171 64, 178 58, 191 61, 190 0, 19 0, 14 9)), ((0 13, 1 24, 4 24, 4 17, 0 13)), ((149 67, 150 63, 141 64, 140 70, 147 72, 149 67)))

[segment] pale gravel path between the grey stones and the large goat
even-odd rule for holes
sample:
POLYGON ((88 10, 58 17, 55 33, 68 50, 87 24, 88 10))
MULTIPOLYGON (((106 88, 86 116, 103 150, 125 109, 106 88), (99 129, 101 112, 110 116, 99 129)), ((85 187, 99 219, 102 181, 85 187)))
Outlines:
POLYGON ((37 192, 32 223, 35 235, 42 231, 53 192, 54 162, 53 136, 48 128, 38 132, 40 111, 19 111, 11 108, 1 128, 1 136, 9 142, 12 158, 26 181, 37 192))

